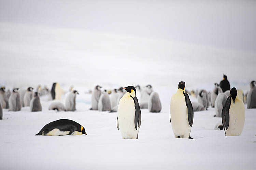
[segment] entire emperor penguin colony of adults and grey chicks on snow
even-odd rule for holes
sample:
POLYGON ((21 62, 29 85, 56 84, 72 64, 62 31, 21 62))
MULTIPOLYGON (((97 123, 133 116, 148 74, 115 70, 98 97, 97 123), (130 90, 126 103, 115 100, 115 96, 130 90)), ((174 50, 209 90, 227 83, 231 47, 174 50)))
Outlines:
MULTIPOLYGON (((158 113, 161 111, 161 102, 157 92, 153 91, 151 85, 142 87, 137 85, 120 87, 118 89, 101 90, 101 86, 95 86, 91 96, 91 110, 100 112, 117 112, 116 125, 120 130, 123 139, 138 139, 141 126, 141 108, 147 108, 149 112, 158 113), (140 103, 136 96, 140 94, 140 103), (110 96, 111 94, 111 96, 110 96)), ((76 95, 78 91, 70 88, 66 95, 65 106, 61 103, 60 97, 64 93, 58 83, 53 83, 51 91, 39 85, 33 91, 33 87, 26 90, 14 88, 12 93, 6 92, 5 87, 0 88, 0 119, 3 118, 3 108, 9 111, 20 111, 22 107, 30 106, 31 112, 42 111, 40 95, 49 95, 53 102, 49 110, 55 111, 76 111, 76 95), (39 91, 42 93, 40 94, 39 91)), ((175 138, 189 138, 193 125, 194 112, 207 110, 211 105, 215 108, 216 117, 221 117, 215 130, 224 130, 225 136, 241 135, 245 121, 244 103, 247 108, 256 108, 256 82, 250 83, 250 91, 243 94, 242 90, 231 88, 227 76, 214 84, 211 92, 204 89, 192 90, 191 93, 185 90, 185 82, 178 84, 178 89, 171 97, 170 102, 170 123, 175 138), (191 102, 189 95, 197 98, 198 102, 191 102)), ((61 135, 82 135, 86 134, 85 129, 79 123, 60 119, 46 124, 36 135, 61 136, 61 135)))

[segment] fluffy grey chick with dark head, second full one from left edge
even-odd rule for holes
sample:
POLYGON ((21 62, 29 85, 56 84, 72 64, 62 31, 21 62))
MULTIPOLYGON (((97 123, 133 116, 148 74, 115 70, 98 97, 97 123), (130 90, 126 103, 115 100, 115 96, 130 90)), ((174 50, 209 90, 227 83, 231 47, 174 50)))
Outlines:
POLYGON ((22 105, 20 103, 19 88, 14 88, 9 98, 9 111, 20 111, 22 105))

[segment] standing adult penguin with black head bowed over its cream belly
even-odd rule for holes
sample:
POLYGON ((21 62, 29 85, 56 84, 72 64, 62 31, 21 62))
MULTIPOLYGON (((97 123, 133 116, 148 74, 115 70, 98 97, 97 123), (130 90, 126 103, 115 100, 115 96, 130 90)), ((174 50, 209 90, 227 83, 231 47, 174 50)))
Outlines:
POLYGON ((240 136, 244 129, 244 120, 244 103, 238 97, 237 89, 233 87, 222 109, 222 124, 226 136, 240 136))

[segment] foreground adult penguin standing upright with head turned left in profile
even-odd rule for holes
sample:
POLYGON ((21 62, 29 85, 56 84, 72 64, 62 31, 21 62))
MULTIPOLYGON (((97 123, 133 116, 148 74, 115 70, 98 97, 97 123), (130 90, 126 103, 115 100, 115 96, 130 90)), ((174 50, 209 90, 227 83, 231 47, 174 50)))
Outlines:
POLYGON ((117 129, 123 139, 138 139, 141 123, 141 111, 136 89, 133 86, 124 88, 127 93, 120 99, 117 110, 117 129))

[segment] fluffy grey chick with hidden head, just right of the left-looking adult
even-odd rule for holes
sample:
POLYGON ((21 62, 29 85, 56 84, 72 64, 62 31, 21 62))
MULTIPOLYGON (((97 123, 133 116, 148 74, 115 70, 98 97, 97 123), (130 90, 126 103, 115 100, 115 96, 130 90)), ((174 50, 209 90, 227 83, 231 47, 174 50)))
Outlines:
POLYGON ((162 109, 160 98, 157 92, 152 92, 148 100, 148 110, 149 112, 158 113, 162 109))

